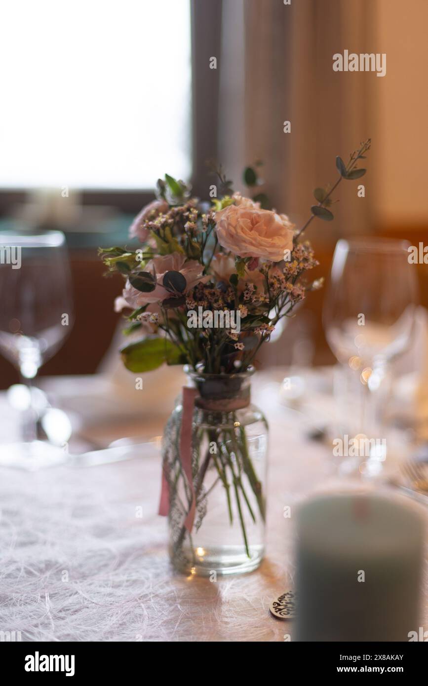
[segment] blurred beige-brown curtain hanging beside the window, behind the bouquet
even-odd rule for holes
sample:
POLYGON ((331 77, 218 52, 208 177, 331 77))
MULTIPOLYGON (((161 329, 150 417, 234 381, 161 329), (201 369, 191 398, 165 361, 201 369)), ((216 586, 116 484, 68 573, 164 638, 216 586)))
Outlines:
MULTIPOLYGON (((335 52, 370 52, 369 10, 369 0, 223 0, 219 159, 240 180, 261 158, 263 190, 298 224, 313 189, 335 180, 335 156, 347 158, 371 134, 375 75, 332 68, 335 52)), ((370 193, 358 198, 344 181, 337 198, 336 221, 311 230, 316 244, 370 230, 370 193)))

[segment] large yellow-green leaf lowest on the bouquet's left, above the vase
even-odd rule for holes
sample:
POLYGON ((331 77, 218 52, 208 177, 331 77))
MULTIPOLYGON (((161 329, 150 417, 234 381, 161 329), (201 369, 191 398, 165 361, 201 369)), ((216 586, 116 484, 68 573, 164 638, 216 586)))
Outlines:
POLYGON ((123 364, 131 372, 150 372, 161 364, 180 364, 180 348, 167 338, 143 338, 121 348, 123 364))

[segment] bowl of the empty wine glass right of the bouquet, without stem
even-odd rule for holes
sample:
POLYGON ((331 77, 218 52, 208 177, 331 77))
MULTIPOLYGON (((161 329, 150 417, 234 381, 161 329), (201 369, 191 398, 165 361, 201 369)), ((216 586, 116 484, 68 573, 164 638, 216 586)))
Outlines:
POLYGON ((342 364, 379 367, 391 362, 412 338, 417 303, 416 273, 407 242, 340 240, 323 311, 331 350, 342 364))

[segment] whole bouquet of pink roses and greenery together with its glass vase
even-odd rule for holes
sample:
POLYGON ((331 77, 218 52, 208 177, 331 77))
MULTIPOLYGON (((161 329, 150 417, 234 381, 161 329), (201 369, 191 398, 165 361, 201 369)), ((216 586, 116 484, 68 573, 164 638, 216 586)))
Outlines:
MULTIPOLYGON (((126 333, 142 334, 121 349, 126 367, 182 364, 189 375, 165 428, 159 509, 180 571, 212 576, 261 563, 268 425, 250 402, 254 362, 277 322, 320 287, 304 278, 318 262, 302 233, 315 217, 333 219, 331 194, 363 176, 357 163, 369 147, 347 165, 336 159, 337 181, 314 191, 300 229, 265 209, 264 195, 234 193, 220 168, 211 203, 171 176, 158 180, 156 200, 130 227, 139 247, 102 250, 125 279, 116 309, 132 310, 126 333)), ((244 178, 257 185, 252 167, 244 178)))

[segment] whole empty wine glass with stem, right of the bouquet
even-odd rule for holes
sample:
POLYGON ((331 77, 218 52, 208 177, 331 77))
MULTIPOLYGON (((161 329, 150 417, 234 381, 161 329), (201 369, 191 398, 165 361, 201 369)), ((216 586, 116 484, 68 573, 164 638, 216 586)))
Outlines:
POLYGON ((361 237, 342 239, 335 248, 324 300, 324 331, 337 360, 352 370, 360 401, 359 412, 350 418, 354 435, 344 436, 342 442, 342 457, 354 454, 342 462, 342 471, 374 476, 383 469, 381 383, 390 363, 412 340, 418 302, 408 246, 407 241, 361 237))

